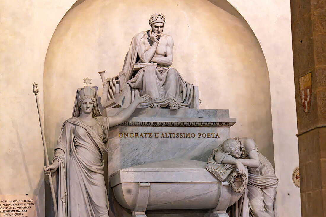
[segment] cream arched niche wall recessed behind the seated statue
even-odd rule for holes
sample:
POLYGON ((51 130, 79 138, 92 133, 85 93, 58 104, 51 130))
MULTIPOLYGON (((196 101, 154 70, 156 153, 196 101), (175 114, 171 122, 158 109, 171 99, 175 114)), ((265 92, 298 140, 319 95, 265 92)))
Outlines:
MULTIPOLYGON (((231 137, 252 137, 274 165, 267 65, 250 26, 226 0, 80 0, 58 24, 44 64, 44 117, 49 147, 71 117, 82 78, 99 87, 98 71, 117 75, 132 37, 156 12, 174 39, 176 68, 199 86, 203 109, 230 109, 231 137)), ((218 144, 217 144, 218 145, 218 144)))

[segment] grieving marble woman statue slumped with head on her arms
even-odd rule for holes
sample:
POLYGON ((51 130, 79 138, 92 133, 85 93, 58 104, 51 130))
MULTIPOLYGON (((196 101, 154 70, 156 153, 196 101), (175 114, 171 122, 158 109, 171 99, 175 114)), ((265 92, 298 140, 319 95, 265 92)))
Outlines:
POLYGON ((234 217, 276 217, 276 187, 278 178, 272 164, 258 152, 252 138, 230 138, 213 150, 208 162, 237 167, 239 174, 248 168, 248 185, 243 197, 231 207, 234 217))

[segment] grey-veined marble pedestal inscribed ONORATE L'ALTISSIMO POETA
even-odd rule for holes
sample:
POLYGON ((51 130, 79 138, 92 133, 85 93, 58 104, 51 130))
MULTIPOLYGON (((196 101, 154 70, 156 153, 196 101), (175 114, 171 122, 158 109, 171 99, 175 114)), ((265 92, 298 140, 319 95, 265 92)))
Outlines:
MULTIPOLYGON (((119 111, 110 109, 107 116, 119 111)), ((108 175, 122 168, 171 158, 207 161, 212 150, 230 138, 230 126, 235 122, 229 117, 229 110, 222 109, 136 109, 126 122, 110 128, 108 175)), ((110 209, 115 216, 131 216, 117 204, 111 189, 109 198, 113 198, 110 209)), ((202 213, 204 216, 207 211, 202 213)))

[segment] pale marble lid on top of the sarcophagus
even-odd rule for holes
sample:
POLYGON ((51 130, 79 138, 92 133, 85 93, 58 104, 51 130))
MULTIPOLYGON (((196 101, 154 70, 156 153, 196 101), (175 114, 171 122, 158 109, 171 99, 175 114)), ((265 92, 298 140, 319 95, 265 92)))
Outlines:
POLYGON ((138 182, 219 182, 205 169, 203 161, 173 158, 139 166, 132 166, 113 173, 110 186, 138 182))

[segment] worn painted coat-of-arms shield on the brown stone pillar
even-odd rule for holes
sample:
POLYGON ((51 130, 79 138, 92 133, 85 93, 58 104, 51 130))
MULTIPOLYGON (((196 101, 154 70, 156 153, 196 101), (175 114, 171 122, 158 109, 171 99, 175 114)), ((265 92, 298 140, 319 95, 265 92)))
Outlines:
POLYGON ((300 77, 299 86, 300 86, 301 105, 304 108, 304 112, 308 115, 310 103, 311 103, 311 94, 312 94, 311 72, 300 77))

